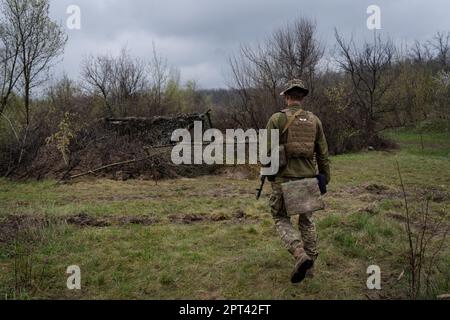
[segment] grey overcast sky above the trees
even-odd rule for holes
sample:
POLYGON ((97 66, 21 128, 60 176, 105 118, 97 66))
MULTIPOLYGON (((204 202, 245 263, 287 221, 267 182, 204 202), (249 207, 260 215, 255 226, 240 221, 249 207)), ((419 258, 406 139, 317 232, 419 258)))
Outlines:
POLYGON ((334 27, 346 36, 371 35, 366 27, 371 4, 381 8, 382 32, 398 42, 450 31, 449 0, 51 0, 51 16, 64 26, 67 7, 81 9, 81 30, 67 30, 69 41, 56 71, 77 79, 84 56, 117 54, 124 46, 150 58, 154 42, 183 81, 225 87, 227 58, 241 43, 262 40, 303 16, 317 22, 330 49, 334 27))

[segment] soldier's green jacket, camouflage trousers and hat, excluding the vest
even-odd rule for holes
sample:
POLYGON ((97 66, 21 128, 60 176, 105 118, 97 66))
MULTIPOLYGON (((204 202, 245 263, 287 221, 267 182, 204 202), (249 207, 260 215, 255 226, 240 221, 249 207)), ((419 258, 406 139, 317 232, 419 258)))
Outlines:
MULTIPOLYGON (((294 80, 294 84, 290 85, 286 91, 294 87, 304 88, 301 81, 294 80)), ((290 113, 295 113, 300 110, 301 107, 300 104, 294 104, 289 106, 288 109, 290 113)), ((317 123, 317 134, 314 142, 315 157, 313 159, 288 159, 287 166, 280 170, 275 181, 272 182, 272 196, 270 199, 271 213, 275 221, 277 231, 280 234, 286 248, 294 256, 297 250, 304 249, 306 254, 313 260, 315 260, 318 256, 317 233, 313 220, 313 214, 310 213, 300 215, 298 229, 294 227, 286 212, 281 185, 292 180, 314 178, 319 173, 325 175, 327 182, 330 182, 331 180, 327 141, 323 132, 322 123, 316 116, 314 117, 315 122, 317 123)), ((267 130, 278 129, 280 130, 281 135, 282 130, 285 128, 287 123, 288 118, 285 113, 276 113, 269 120, 267 130)), ((288 133, 281 135, 281 144, 285 144, 287 142, 287 136, 288 133)), ((268 150, 271 150, 270 139, 268 144, 268 150)))

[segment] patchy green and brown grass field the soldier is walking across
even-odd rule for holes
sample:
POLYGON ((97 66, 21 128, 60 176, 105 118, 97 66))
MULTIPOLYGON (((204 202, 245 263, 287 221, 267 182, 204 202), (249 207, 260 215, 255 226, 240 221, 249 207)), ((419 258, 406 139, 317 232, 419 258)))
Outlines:
MULTIPOLYGON (((270 187, 256 202, 256 180, 0 180, 0 298, 407 298, 407 272, 400 276, 407 270, 407 241, 396 161, 412 209, 431 190, 437 194, 433 214, 448 213, 450 139, 421 139, 410 131, 389 136, 401 150, 333 157, 328 208, 316 215, 316 277, 300 285, 289 282, 293 260, 269 214, 270 187), (17 220, 31 231, 12 232, 17 220), (81 268, 79 291, 66 287, 70 265, 81 268), (381 267, 381 291, 366 287, 370 265, 381 267)), ((448 241, 438 267, 425 298, 450 292, 448 241)))

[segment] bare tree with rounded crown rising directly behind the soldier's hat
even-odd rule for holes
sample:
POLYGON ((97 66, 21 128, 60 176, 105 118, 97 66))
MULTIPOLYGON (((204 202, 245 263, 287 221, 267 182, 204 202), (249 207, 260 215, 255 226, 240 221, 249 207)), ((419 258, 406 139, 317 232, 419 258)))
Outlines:
POLYGON ((239 97, 238 105, 233 106, 235 121, 241 126, 264 126, 267 118, 283 105, 279 96, 283 83, 302 78, 314 88, 322 56, 316 24, 307 19, 279 28, 255 46, 242 45, 229 60, 230 87, 239 97))

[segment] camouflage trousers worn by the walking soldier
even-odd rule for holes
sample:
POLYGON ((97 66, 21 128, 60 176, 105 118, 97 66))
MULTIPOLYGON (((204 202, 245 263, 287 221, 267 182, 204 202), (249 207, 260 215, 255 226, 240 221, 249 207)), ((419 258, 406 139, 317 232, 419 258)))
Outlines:
POLYGON ((297 229, 286 212, 281 185, 290 180, 292 179, 277 178, 272 183, 270 208, 275 226, 285 247, 292 255, 298 248, 303 247, 311 258, 316 259, 318 256, 317 232, 313 213, 300 215, 297 229))

